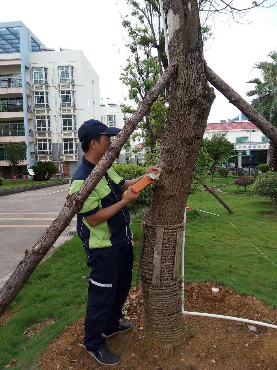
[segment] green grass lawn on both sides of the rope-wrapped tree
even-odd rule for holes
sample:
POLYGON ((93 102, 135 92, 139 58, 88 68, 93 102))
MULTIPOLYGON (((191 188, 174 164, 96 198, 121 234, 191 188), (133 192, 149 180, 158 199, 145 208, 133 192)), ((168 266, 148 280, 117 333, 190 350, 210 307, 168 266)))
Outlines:
MULTIPOLYGON (((220 196, 234 214, 229 214, 211 194, 200 189, 188 198, 187 205, 194 210, 187 212, 185 281, 223 283, 248 295, 254 293, 270 306, 277 307, 277 218, 260 214, 273 212, 270 200, 220 196)), ((137 217, 131 225, 135 262, 140 253, 140 222, 137 217)), ((137 266, 135 263, 133 284, 137 266)), ((88 280, 82 276, 88 275, 89 270, 78 236, 64 243, 38 266, 9 307, 17 314, 0 327, 0 368, 17 358, 20 362, 13 366, 14 370, 31 370, 47 343, 85 312, 88 280), (23 335, 34 324, 49 318, 55 323, 41 329, 33 339, 23 335)))

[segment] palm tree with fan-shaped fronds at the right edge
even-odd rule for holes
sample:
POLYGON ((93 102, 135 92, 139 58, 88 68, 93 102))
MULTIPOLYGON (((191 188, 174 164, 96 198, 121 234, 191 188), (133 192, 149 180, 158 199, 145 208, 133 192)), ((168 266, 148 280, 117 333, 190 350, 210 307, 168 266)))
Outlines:
MULTIPOLYGON (((253 78, 248 81, 256 84, 254 90, 247 91, 247 96, 255 96, 251 104, 260 112, 274 127, 277 128, 277 51, 271 51, 268 55, 272 61, 255 64, 255 68, 261 70, 261 80, 253 78)), ((277 171, 277 145, 270 143, 269 167, 271 171, 277 171)))

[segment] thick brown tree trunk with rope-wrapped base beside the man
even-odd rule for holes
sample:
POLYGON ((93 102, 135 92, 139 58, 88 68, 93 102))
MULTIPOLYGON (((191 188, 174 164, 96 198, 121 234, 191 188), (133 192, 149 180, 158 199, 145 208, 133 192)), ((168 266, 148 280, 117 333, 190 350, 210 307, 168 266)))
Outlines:
POLYGON ((178 57, 178 69, 170 82, 168 120, 159 161, 163 171, 154 185, 145 223, 141 276, 148 337, 154 343, 177 345, 185 339, 178 277, 181 228, 215 94, 205 76, 196 0, 164 0, 164 10, 169 54, 171 60, 178 57))

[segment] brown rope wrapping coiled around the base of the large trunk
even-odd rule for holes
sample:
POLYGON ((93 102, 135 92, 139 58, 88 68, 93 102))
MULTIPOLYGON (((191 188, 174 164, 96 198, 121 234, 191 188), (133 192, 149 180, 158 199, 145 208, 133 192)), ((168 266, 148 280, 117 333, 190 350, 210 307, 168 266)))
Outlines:
POLYGON ((180 344, 186 337, 181 313, 181 281, 173 279, 174 255, 179 225, 153 225, 145 222, 141 276, 146 330, 151 342, 180 344), (153 256, 156 228, 163 227, 160 287, 153 285, 153 256))

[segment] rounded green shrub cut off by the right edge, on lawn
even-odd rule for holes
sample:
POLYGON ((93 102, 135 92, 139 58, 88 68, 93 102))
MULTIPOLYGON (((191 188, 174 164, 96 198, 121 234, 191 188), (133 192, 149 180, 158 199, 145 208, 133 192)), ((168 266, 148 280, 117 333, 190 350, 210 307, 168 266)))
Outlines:
POLYGON ((277 213, 277 172, 260 174, 254 184, 254 192, 271 198, 275 212, 277 213))

